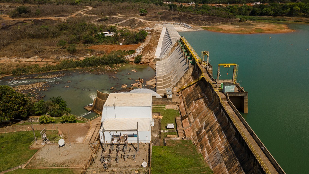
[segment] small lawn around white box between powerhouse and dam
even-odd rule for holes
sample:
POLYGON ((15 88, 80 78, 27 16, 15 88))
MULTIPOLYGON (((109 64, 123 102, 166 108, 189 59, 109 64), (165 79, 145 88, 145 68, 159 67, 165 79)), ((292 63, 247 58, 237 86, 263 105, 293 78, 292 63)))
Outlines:
POLYGON ((166 128, 167 123, 174 123, 176 130, 176 120, 175 117, 179 116, 179 111, 174 110, 174 109, 159 109, 159 108, 152 108, 152 112, 160 112, 161 116, 163 118, 161 119, 161 130, 171 130, 166 128))

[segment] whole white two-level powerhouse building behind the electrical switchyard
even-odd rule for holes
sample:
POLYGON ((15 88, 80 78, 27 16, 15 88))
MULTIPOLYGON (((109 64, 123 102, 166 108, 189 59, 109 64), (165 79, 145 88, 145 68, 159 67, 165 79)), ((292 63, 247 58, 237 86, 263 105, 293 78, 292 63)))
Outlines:
POLYGON ((128 143, 146 143, 151 138, 152 94, 111 93, 102 111, 101 142, 128 137, 128 143))

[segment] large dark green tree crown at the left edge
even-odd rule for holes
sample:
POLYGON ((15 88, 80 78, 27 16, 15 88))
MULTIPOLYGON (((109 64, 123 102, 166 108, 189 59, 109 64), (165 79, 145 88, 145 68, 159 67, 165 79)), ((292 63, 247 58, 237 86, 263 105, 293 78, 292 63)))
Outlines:
POLYGON ((10 86, 0 86, 0 120, 27 118, 31 114, 32 102, 10 86))

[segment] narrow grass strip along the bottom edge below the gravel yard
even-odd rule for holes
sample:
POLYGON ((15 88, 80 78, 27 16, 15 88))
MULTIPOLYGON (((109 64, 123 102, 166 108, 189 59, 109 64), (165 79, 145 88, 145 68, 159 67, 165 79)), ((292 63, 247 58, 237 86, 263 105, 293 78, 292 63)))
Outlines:
POLYGON ((16 169, 11 172, 7 172, 7 174, 32 174, 32 173, 40 173, 40 174, 71 174, 71 173, 81 173, 82 169, 70 169, 70 168, 50 168, 50 169, 16 169))

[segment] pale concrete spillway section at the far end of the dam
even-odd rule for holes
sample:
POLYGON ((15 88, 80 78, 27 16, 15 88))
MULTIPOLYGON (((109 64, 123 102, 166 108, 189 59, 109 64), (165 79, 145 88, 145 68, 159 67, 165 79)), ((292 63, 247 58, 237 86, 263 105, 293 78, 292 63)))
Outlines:
POLYGON ((161 96, 164 95, 166 88, 174 87, 189 69, 189 63, 177 46, 179 38, 180 35, 171 25, 163 28, 159 38, 156 51, 158 57, 155 57, 155 60, 157 60, 157 93, 161 96))

